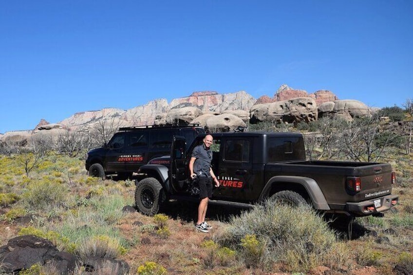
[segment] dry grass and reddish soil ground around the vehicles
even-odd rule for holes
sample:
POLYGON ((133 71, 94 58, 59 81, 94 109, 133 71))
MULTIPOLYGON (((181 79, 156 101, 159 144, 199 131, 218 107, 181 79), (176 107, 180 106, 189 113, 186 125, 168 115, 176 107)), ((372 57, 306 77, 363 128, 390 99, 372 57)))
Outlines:
MULTIPOLYGON (((232 241, 220 241, 231 231, 233 222, 238 219, 236 217, 243 217, 245 223, 245 217, 251 211, 243 213, 238 209, 230 209, 225 212, 222 207, 211 205, 208 207, 207 220, 214 228, 211 233, 200 233, 193 226, 196 204, 170 202, 162 213, 167 218, 147 217, 137 212, 124 213, 122 207, 133 204, 133 185, 123 181, 90 178, 84 170, 83 160, 58 155, 48 158, 49 162, 33 170, 30 178, 27 178, 13 158, 0 156, 0 193, 3 194, 0 245, 6 244, 8 239, 18 236, 22 228, 31 225, 42 236, 59 232, 60 237, 55 242, 61 250, 72 250, 80 256, 106 255, 122 259, 130 265, 131 274, 136 274, 138 268, 148 262, 159 264, 168 274, 317 274, 320 266, 329 269, 330 274, 396 274, 395 267, 412 271, 413 177, 411 165, 408 164, 394 164, 394 167, 403 169, 403 172, 399 172, 402 184, 398 184, 393 192, 400 196, 396 211, 388 211, 384 218, 357 219, 360 226, 375 234, 370 232, 353 240, 337 240, 327 227, 319 227, 323 221, 317 220, 316 215, 309 214, 305 216, 306 219, 300 220, 302 215, 291 212, 282 214, 284 220, 277 221, 284 223, 284 227, 289 226, 290 232, 276 232, 278 236, 290 234, 290 239, 285 238, 283 242, 279 238, 279 242, 270 243, 268 232, 257 231, 263 226, 251 221, 251 230, 248 229, 251 232, 248 234, 255 233, 257 240, 261 241, 257 248, 265 248, 259 258, 265 266, 263 268, 245 264, 244 253, 248 245, 244 245, 243 250, 241 241, 245 234, 233 235, 236 238, 232 241), (31 183, 37 186, 28 188, 31 183), (48 188, 53 186, 48 185, 50 183, 56 183, 61 189, 48 188), (27 192, 32 192, 29 199, 27 192), (28 209, 28 205, 41 201, 42 192, 48 192, 51 198, 59 198, 60 202, 28 209), (59 197, 60 193, 66 195, 62 198, 59 197), (19 210, 22 207, 26 209, 26 215, 33 217, 30 224, 18 217, 25 215, 19 210), (293 223, 287 224, 291 221, 288 215, 295 217, 293 223), (311 222, 317 226, 311 226, 311 222), (167 228, 168 234, 159 234, 157 230, 160 228, 167 228), (312 231, 317 228, 318 231, 312 231), (282 255, 280 248, 288 244, 287 240, 290 240, 290 249, 284 249, 286 253, 282 255), (231 246, 228 243, 239 245, 231 246), (324 249, 321 249, 323 246, 324 249), (316 253, 308 253, 309 250, 316 253), (277 251, 277 255, 271 254, 274 251, 277 251), (364 268, 365 265, 372 267, 364 268)), ((411 158, 408 161, 411 162, 411 158)), ((251 241, 251 244, 254 243, 251 241)), ((253 248, 249 247, 252 252, 253 248)), ((50 267, 49 270, 53 273, 50 267)), ((79 267, 75 274, 84 274, 84 271, 79 267)))

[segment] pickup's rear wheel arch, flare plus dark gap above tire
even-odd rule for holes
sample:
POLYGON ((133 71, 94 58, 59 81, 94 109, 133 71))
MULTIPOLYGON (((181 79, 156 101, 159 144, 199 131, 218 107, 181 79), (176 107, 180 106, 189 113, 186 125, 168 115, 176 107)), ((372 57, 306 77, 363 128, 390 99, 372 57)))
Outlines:
POLYGON ((311 200, 315 209, 330 210, 330 206, 317 182, 314 179, 307 177, 274 176, 265 184, 259 201, 262 202, 265 198, 283 190, 297 192, 305 200, 311 200))

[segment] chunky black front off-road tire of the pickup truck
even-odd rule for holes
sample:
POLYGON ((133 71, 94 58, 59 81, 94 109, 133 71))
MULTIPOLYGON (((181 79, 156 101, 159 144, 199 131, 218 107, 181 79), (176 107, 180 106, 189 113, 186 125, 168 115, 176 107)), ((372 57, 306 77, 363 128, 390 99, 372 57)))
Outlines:
POLYGON ((162 203, 162 185, 155 178, 146 178, 137 183, 135 189, 135 205, 137 210, 148 216, 158 213, 162 203))

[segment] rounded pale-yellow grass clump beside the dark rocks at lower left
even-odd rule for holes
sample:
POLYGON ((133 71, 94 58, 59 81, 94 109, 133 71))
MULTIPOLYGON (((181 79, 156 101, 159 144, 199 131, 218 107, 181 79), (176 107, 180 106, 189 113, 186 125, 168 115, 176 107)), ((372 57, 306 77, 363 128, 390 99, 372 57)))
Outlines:
POLYGON ((124 255, 126 252, 127 249, 121 244, 119 239, 105 235, 93 236, 79 243, 76 249, 76 254, 80 258, 116 258, 124 255))

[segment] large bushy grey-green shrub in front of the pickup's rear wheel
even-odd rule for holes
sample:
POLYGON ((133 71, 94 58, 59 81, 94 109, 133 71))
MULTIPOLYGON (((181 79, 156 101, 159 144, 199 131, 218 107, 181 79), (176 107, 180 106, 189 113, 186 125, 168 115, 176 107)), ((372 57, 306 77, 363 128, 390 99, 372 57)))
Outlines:
POLYGON ((256 244, 256 252, 263 253, 262 262, 280 262, 300 271, 324 264, 335 253, 336 236, 322 217, 310 207, 288 207, 267 201, 249 212, 232 217, 226 232, 218 240, 222 246, 236 250, 246 241, 256 244), (255 242, 252 237, 256 236, 255 242), (263 245, 264 244, 264 245, 263 245), (267 251, 260 252, 261 245, 267 251), (286 261, 286 258, 289 261, 286 261))

